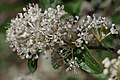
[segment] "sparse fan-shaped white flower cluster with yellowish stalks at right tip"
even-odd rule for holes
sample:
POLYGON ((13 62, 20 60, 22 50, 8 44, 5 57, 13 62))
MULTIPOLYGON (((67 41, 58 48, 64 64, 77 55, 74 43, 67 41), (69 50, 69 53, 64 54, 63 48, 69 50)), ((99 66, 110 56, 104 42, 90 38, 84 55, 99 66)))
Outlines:
POLYGON ((91 17, 88 15, 87 18, 83 20, 82 26, 87 28, 86 30, 89 35, 93 35, 99 41, 110 34, 118 34, 115 24, 112 24, 107 18, 101 16, 93 15, 91 17))

